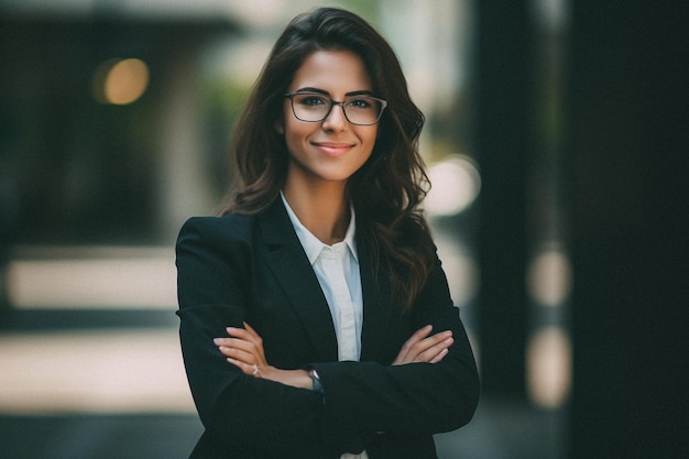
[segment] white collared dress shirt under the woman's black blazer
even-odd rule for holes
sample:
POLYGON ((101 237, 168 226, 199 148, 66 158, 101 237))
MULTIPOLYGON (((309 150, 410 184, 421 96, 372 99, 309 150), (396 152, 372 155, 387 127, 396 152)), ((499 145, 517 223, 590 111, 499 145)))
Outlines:
MULTIPOLYGON (((361 356, 361 328, 363 324, 363 297, 361 274, 354 233, 357 218, 351 209, 351 219, 344 240, 328 245, 316 238, 297 218, 281 194, 289 220, 306 252, 320 288, 328 302, 338 343, 338 360, 358 361, 361 356)), ((327 387, 326 387, 327 390, 327 387)), ((360 455, 344 453, 341 459, 368 459, 367 451, 360 455)))

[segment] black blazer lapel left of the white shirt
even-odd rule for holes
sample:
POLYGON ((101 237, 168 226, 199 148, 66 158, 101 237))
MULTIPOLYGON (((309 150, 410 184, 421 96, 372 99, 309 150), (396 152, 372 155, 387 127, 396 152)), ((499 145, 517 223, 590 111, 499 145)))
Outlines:
POLYGON ((328 303, 281 199, 260 215, 259 225, 267 249, 266 263, 304 323, 319 359, 337 360, 337 338, 328 303))

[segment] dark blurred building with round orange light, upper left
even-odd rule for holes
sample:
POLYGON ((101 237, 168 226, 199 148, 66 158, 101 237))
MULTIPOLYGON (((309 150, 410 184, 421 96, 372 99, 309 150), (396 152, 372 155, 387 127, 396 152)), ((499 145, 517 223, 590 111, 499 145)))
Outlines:
POLYGON ((1 1, 19 241, 167 243, 189 203, 211 211, 199 63, 238 32, 222 2, 1 1))

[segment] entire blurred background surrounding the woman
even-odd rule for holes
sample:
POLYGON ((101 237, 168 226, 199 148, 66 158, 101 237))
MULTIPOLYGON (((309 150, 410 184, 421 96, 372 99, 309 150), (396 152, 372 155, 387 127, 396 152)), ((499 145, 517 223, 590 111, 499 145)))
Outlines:
POLYGON ((661 3, 0 0, 0 457, 188 456, 175 237, 316 6, 381 31, 427 114, 483 382, 440 458, 689 457, 687 17, 661 3))

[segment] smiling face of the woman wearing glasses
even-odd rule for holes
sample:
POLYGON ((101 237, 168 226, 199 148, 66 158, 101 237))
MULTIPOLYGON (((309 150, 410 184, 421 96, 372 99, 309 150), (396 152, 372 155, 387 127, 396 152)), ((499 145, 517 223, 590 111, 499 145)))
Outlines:
MULTIPOLYGON (((296 72, 288 92, 316 91, 336 101, 348 96, 372 95, 369 74, 361 58, 349 51, 317 51, 296 72)), ((371 156, 378 124, 357 125, 344 118, 341 106, 332 106, 320 122, 298 120, 288 98, 282 122, 289 151, 287 181, 344 183, 371 156)))

